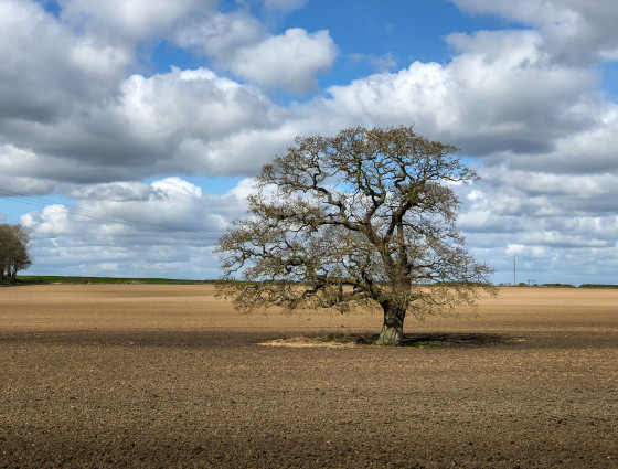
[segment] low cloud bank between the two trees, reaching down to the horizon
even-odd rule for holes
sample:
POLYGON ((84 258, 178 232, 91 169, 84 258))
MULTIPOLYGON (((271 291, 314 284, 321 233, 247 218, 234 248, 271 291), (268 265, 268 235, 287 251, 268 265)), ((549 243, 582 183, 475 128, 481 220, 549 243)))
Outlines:
POLYGON ((49 205, 21 223, 32 228, 41 273, 217 278, 212 245, 244 214, 251 185, 242 180, 210 195, 171 177, 76 188, 73 195, 83 198, 76 206, 49 205))

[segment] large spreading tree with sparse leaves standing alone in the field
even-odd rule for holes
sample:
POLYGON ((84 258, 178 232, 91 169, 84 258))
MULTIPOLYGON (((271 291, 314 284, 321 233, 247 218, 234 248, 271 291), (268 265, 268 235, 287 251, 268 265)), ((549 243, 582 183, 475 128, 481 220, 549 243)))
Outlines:
POLYGON ((224 295, 241 309, 381 308, 384 345, 401 343, 407 315, 473 307, 493 270, 456 228, 452 186, 478 179, 456 151, 412 127, 297 138, 215 247, 224 295))

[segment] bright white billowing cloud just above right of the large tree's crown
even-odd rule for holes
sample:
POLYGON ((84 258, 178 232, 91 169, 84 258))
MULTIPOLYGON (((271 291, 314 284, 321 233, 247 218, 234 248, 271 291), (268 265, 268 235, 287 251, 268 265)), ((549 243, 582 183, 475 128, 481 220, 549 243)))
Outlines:
POLYGON ((416 124, 422 134, 476 157, 550 151, 557 137, 595 119, 577 106, 598 83, 596 72, 548 62, 534 32, 455 34, 448 41, 458 47, 450 63, 415 62, 333 86, 326 106, 361 124, 416 124))

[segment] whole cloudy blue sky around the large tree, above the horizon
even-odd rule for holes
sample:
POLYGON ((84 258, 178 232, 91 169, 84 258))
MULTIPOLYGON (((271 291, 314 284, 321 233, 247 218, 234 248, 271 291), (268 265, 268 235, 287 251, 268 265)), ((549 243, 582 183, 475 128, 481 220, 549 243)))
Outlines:
POLYGON ((496 283, 618 284, 615 0, 0 0, 0 223, 32 275, 221 275, 296 136, 456 145, 496 283))

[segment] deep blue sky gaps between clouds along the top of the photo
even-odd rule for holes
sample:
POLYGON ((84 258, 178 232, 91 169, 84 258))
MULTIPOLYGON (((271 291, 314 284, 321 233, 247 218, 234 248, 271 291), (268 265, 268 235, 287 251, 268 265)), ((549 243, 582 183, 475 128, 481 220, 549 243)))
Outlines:
MULTIPOLYGON (((316 0, 305 2, 298 10, 275 15, 259 1, 247 2, 246 8, 263 19, 274 33, 299 26, 308 31, 329 31, 339 49, 339 58, 328 73, 318 75, 320 86, 316 92, 330 85, 345 85, 383 70, 396 71, 414 61, 447 62, 454 51, 445 36, 452 31, 501 29, 505 24, 498 18, 467 14, 446 0, 316 0), (371 58, 383 62, 382 66, 372 63, 371 58)), ((221 3, 222 11, 237 9, 235 1, 221 3)), ((151 54, 147 54, 143 65, 148 71, 166 73, 171 65, 191 68, 212 66, 212 63, 207 57, 162 40, 156 43, 151 54)), ((273 90, 267 92, 273 96, 273 90)), ((308 96, 300 98, 307 99, 308 96)), ((299 99, 299 96, 285 93, 277 95, 276 90, 274 97, 299 99)))

